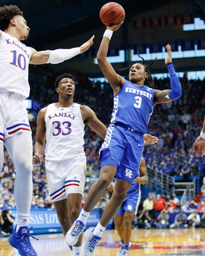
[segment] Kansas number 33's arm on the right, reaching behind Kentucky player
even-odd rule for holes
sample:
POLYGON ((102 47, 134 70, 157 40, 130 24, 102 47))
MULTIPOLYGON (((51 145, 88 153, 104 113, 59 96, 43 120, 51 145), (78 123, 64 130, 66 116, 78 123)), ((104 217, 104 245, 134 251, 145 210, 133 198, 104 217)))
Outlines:
POLYGON ((82 120, 89 125, 100 137, 105 138, 107 127, 97 119, 94 111, 88 106, 80 106, 82 120))

